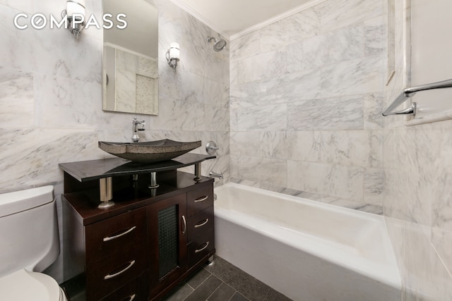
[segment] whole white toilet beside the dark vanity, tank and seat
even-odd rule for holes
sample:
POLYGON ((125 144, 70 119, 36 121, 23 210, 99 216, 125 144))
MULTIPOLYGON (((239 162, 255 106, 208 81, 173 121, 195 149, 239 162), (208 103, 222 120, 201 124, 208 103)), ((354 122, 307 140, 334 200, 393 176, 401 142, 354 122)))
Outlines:
POLYGON ((42 274, 59 255, 53 186, 0 195, 0 300, 66 301, 42 274))

